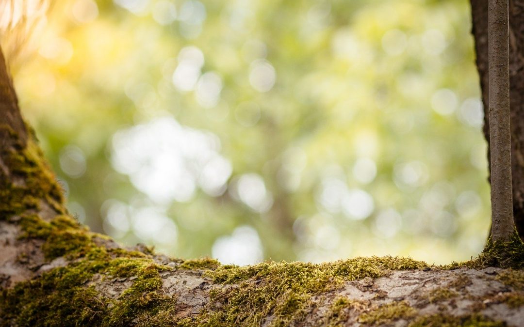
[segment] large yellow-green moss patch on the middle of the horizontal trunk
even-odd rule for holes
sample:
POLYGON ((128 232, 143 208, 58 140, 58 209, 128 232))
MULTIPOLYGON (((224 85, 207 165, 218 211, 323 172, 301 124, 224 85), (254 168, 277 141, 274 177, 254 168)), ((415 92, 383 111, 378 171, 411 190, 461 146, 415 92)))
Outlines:
POLYGON ((274 316, 272 324, 300 321, 311 305, 311 297, 338 288, 344 281, 377 278, 390 270, 421 269, 428 265, 401 257, 357 257, 332 263, 267 262, 253 266, 219 266, 206 276, 215 283, 234 284, 211 292, 220 310, 208 308, 198 318, 204 325, 259 324, 274 316))

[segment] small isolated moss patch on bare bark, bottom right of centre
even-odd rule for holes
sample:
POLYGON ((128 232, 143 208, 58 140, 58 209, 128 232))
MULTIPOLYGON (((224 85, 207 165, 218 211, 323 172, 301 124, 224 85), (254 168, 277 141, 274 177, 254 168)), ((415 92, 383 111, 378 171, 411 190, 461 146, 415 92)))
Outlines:
POLYGON ((417 310, 411 308, 406 301, 391 302, 374 310, 363 313, 358 317, 358 322, 371 325, 391 323, 399 319, 409 319, 417 314, 417 310))

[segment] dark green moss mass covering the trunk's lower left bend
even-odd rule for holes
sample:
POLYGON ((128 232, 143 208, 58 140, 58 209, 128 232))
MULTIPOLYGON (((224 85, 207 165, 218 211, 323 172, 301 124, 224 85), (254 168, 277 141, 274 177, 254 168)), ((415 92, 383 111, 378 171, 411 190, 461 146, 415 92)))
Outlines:
POLYGON ((176 299, 161 293, 159 272, 169 269, 155 264, 151 256, 124 249, 106 249, 97 245, 97 234, 79 226, 68 216, 50 222, 37 215, 20 220, 21 238, 44 241, 42 251, 51 260, 67 256, 74 260, 67 267, 19 283, 5 290, 0 312, 19 325, 132 325, 140 322, 172 325, 176 321, 172 304, 176 299), (133 285, 116 300, 104 298, 84 286, 94 274, 104 278, 133 278, 133 285), (71 300, 83 299, 72 303, 71 300), (52 303, 52 304, 49 304, 52 303), (45 323, 42 323, 45 322, 45 323), (154 322, 154 323, 153 323, 154 322))

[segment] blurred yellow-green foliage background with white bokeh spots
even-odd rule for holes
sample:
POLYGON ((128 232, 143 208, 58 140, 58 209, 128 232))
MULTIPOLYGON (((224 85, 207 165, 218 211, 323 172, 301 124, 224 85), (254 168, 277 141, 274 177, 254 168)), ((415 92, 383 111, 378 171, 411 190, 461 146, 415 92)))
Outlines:
POLYGON ((39 28, 20 104, 93 231, 241 265, 483 248, 466 0, 60 0, 39 28))

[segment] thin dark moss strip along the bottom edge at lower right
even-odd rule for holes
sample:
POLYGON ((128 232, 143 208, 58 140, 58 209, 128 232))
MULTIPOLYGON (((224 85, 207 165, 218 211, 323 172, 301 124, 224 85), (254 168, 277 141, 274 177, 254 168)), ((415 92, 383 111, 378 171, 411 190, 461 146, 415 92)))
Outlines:
POLYGON ((455 317, 454 315, 433 314, 424 315, 412 321, 409 327, 502 327, 504 322, 493 321, 488 317, 479 314, 464 315, 455 317))

